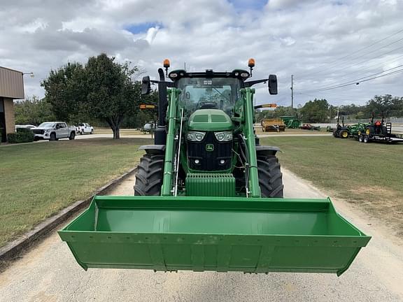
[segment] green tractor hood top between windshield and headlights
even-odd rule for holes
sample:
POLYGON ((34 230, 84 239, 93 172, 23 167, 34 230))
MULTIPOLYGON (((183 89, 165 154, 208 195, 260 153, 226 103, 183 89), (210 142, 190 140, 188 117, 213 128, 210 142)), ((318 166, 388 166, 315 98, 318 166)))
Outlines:
POLYGON ((228 131, 232 130, 231 117, 219 109, 199 109, 189 117, 189 130, 228 131))

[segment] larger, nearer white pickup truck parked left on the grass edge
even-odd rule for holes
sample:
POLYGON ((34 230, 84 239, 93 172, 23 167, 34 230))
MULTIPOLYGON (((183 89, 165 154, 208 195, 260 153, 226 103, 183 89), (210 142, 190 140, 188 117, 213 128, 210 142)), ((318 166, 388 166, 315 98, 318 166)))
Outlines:
POLYGON ((73 140, 76 137, 76 127, 69 127, 65 122, 43 122, 31 131, 35 135, 34 141, 42 139, 57 141, 59 138, 73 140))

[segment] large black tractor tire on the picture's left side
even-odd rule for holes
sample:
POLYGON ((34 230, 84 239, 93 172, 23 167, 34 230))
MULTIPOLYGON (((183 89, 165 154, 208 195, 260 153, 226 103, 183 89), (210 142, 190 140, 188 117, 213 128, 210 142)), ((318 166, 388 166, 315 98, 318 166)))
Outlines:
POLYGON ((159 196, 164 178, 164 154, 145 154, 137 166, 134 195, 159 196))

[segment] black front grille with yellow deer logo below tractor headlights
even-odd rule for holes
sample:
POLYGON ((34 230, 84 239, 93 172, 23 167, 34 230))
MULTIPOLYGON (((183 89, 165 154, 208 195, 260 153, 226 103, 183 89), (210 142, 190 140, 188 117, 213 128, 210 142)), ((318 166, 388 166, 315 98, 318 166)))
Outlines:
POLYGON ((201 142, 187 141, 189 167, 199 171, 222 171, 231 168, 232 164, 232 141, 219 142, 213 132, 207 132, 201 142), (206 145, 214 145, 213 151, 206 151, 206 145), (199 164, 195 164, 199 159, 199 164), (224 159, 225 163, 220 164, 224 159))

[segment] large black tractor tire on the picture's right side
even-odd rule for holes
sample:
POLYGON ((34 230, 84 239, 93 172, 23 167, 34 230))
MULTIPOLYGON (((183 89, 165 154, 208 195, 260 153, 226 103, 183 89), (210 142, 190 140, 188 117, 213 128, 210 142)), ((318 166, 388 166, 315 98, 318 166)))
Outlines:
POLYGON ((257 173, 262 197, 283 198, 283 173, 275 155, 258 155, 257 173))

